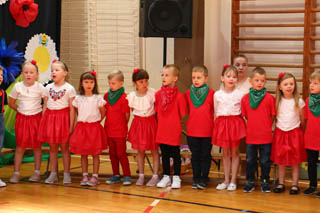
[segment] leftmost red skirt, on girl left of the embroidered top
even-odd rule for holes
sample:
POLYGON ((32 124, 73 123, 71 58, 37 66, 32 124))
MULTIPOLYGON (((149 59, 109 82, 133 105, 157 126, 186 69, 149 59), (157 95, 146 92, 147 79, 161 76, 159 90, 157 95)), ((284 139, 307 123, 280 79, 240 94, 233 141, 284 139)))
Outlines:
POLYGON ((41 114, 41 112, 35 115, 17 113, 15 133, 18 147, 41 148, 42 143, 38 140, 41 114))

